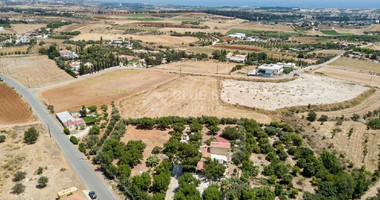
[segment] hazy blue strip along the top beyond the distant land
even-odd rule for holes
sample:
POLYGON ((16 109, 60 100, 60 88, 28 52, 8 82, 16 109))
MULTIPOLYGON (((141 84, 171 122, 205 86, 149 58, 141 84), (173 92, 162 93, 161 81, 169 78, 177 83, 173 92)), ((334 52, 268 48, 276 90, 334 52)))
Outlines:
POLYGON ((103 0, 108 2, 147 3, 190 6, 286 6, 329 8, 380 8, 380 0, 103 0))

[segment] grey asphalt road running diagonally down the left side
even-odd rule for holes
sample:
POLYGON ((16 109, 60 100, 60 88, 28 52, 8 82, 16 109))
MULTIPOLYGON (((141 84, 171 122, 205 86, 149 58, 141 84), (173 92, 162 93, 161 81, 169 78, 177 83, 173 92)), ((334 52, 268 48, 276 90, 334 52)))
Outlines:
POLYGON ((72 168, 75 170, 79 178, 90 189, 94 190, 100 200, 113 200, 116 199, 114 194, 110 191, 111 188, 107 187, 101 177, 99 177, 94 170, 87 163, 82 153, 80 153, 76 146, 74 146, 63 133, 60 124, 48 113, 45 106, 26 88, 17 83, 16 81, 0 74, 5 82, 14 87, 32 106, 35 113, 37 113, 40 120, 50 130, 51 135, 56 140, 58 146, 63 151, 66 158, 69 160, 72 168))

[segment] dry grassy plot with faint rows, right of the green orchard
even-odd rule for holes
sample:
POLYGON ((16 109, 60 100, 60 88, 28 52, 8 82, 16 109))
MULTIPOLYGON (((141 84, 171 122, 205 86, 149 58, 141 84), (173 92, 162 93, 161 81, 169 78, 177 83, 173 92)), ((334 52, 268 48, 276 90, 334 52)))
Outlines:
POLYGON ((365 165, 366 169, 373 172, 377 169, 380 142, 379 131, 367 130, 367 125, 360 122, 344 121, 341 126, 337 126, 336 122, 313 122, 311 124, 317 129, 316 133, 320 137, 325 136, 325 140, 315 138, 313 141, 318 142, 318 146, 331 146, 339 153, 343 153, 345 158, 354 163, 355 167, 360 168, 365 165), (333 129, 340 128, 342 131, 337 131, 333 137, 333 129), (353 128, 353 133, 349 137, 348 133, 353 128), (368 142, 365 143, 365 140, 368 142), (319 144, 321 143, 321 144, 319 144), (322 144, 323 143, 323 144, 322 144), (368 154, 364 156, 363 150, 367 146, 368 154))

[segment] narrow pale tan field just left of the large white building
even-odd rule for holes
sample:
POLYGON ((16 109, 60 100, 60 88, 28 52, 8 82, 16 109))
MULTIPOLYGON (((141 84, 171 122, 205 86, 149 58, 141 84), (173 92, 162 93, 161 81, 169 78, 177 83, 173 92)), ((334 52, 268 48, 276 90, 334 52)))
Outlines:
POLYGON ((228 74, 236 63, 222 63, 212 61, 188 61, 175 62, 167 65, 160 65, 156 68, 166 70, 176 70, 182 72, 198 72, 213 74, 228 74))

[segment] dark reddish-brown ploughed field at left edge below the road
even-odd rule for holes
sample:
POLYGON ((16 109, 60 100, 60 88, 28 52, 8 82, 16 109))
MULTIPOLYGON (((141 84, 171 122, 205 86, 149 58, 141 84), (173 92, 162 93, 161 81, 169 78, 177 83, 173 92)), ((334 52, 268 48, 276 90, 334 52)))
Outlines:
POLYGON ((0 126, 31 120, 29 105, 4 83, 0 83, 0 126))

